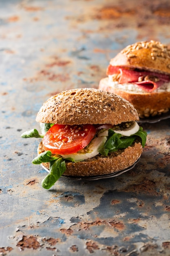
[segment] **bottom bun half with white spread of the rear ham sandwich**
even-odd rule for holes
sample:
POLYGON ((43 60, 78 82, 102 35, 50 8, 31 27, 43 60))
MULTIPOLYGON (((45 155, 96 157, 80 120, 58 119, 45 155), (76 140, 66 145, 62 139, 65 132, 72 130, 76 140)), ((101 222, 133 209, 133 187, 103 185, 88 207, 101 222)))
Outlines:
POLYGON ((110 84, 108 77, 101 79, 99 90, 112 92, 129 101, 136 108, 140 118, 164 114, 170 109, 170 92, 135 92, 121 90, 110 84))

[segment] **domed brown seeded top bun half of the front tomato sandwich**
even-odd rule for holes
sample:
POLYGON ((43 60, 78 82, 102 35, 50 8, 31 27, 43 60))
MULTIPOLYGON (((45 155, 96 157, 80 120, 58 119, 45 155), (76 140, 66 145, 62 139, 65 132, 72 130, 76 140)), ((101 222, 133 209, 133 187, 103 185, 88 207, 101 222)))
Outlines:
POLYGON ((137 110, 125 99, 93 88, 73 89, 49 98, 36 121, 51 124, 121 124, 138 121, 137 110))

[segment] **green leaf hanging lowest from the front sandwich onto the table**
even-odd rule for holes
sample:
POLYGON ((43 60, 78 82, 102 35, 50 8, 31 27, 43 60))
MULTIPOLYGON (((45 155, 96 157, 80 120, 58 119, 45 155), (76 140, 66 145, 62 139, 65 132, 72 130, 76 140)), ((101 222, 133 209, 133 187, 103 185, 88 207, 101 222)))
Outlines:
POLYGON ((65 171, 66 163, 62 157, 50 162, 49 174, 42 180, 42 187, 50 189, 65 171))

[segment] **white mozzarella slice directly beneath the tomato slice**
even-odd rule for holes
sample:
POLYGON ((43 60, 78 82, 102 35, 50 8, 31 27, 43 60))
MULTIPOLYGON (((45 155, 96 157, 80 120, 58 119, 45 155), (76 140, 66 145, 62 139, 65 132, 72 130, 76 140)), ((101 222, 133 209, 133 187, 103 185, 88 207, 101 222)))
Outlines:
POLYGON ((95 157, 95 155, 99 154, 99 149, 104 145, 106 142, 107 137, 95 137, 91 140, 87 149, 79 150, 79 153, 73 153, 69 155, 61 155, 63 158, 66 159, 73 159, 75 162, 84 161, 85 159, 95 157))

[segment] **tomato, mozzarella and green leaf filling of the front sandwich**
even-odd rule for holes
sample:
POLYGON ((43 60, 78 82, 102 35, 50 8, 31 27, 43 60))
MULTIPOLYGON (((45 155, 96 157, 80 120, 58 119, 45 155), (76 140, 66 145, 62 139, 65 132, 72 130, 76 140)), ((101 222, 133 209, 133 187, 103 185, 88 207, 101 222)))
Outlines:
POLYGON ((111 124, 84 124, 59 125, 40 124, 38 130, 24 132, 21 137, 40 137, 44 152, 32 161, 33 164, 50 163, 49 174, 42 180, 42 186, 50 189, 51 186, 66 171, 66 162, 79 162, 96 155, 104 155, 125 149, 134 141, 146 143, 146 132, 137 122, 125 122, 118 125, 111 124))

